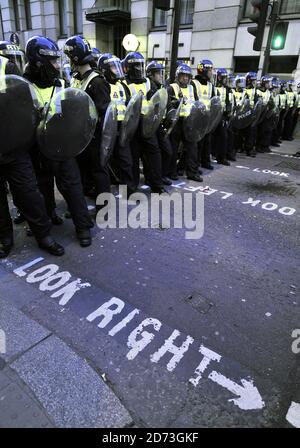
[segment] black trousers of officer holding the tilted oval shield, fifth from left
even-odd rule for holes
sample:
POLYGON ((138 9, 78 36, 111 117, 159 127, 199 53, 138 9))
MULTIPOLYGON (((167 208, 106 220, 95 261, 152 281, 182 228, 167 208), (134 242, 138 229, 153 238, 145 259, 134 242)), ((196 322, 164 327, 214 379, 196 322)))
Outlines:
POLYGON ((144 176, 149 186, 153 188, 162 187, 161 152, 157 135, 154 134, 150 138, 143 137, 140 124, 130 143, 130 147, 135 189, 140 182, 140 158, 143 162, 144 176))

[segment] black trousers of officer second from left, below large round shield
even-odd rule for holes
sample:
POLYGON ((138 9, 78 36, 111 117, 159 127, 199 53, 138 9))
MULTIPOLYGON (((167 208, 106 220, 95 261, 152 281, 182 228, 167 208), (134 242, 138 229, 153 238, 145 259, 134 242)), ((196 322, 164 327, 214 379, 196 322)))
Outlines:
POLYGON ((33 160, 38 187, 44 196, 48 213, 54 205, 55 179, 57 188, 67 203, 76 230, 92 228, 93 221, 88 212, 76 160, 72 158, 60 162, 53 161, 39 152, 34 154, 33 160))

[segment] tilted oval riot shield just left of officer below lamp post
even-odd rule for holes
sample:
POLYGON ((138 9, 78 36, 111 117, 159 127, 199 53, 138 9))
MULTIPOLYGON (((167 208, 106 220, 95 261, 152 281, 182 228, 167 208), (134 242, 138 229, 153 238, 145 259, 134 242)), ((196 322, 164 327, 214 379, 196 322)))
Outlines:
POLYGON ((159 89, 151 98, 148 110, 142 115, 142 135, 149 138, 157 131, 162 122, 168 103, 168 92, 165 88, 159 89))

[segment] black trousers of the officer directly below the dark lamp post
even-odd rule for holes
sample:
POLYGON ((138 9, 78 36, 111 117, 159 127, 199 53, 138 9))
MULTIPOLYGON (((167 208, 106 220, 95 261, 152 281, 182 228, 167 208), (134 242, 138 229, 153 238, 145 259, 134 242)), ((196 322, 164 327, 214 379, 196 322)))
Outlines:
POLYGON ((185 170, 187 176, 198 174, 197 143, 186 140, 182 122, 183 119, 179 118, 170 135, 172 144, 170 176, 177 175, 178 169, 185 170), (179 149, 181 149, 181 154, 180 160, 177 164, 179 149))

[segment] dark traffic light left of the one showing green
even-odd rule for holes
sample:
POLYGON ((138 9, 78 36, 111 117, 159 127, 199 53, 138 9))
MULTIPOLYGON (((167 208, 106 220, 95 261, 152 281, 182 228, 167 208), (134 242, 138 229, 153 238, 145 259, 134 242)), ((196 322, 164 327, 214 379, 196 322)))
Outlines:
POLYGON ((247 31, 255 37, 253 50, 260 51, 268 15, 269 0, 251 0, 251 5, 253 6, 253 13, 250 15, 250 19, 257 25, 249 26, 247 31))

